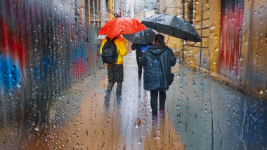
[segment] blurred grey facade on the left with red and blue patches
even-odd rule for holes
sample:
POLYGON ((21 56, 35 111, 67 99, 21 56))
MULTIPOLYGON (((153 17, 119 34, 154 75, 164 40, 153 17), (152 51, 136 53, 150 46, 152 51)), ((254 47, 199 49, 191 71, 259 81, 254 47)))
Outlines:
POLYGON ((18 132, 22 118, 32 118, 25 125, 46 123, 53 97, 103 67, 97 33, 110 18, 124 13, 123 3, 0 1, 2 125, 18 122, 11 127, 18 132))

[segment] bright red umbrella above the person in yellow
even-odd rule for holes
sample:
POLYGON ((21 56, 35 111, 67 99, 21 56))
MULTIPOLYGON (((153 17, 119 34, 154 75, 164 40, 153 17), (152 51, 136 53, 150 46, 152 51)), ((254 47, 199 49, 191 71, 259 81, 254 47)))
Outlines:
POLYGON ((107 36, 119 36, 120 34, 134 34, 147 29, 136 19, 119 17, 105 23, 98 34, 107 36))

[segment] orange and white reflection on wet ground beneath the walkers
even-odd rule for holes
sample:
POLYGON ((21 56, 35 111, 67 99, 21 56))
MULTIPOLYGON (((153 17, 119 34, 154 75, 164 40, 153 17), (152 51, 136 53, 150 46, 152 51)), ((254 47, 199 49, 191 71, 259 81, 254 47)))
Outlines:
MULTIPOLYGON (((49 103, 47 123, 24 125, 23 149, 183 149, 168 112, 152 121, 150 93, 138 80, 134 53, 124 58, 122 97, 111 94, 106 69, 49 103)), ((116 89, 116 84, 115 88, 116 89)))

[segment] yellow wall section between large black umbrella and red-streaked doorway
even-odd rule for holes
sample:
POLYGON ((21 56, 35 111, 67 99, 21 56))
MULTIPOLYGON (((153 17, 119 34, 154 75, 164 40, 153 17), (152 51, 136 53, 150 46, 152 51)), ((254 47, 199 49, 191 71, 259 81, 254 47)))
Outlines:
MULTIPOLYGON (((185 20, 189 20, 188 2, 188 0, 185 1, 185 20)), ((216 73, 218 72, 217 60, 219 52, 219 35, 221 24, 221 1, 194 0, 193 4, 193 26, 195 27, 197 33, 200 36, 202 32, 201 67, 205 71, 211 71, 211 73, 216 73)), ((183 4, 181 4, 180 7, 182 10, 183 4)), ((188 63, 194 67, 198 67, 200 65, 200 47, 201 42, 196 43, 192 41, 185 41, 185 63, 188 63)), ((182 56, 182 49, 182 43, 180 42, 180 56, 182 56)))

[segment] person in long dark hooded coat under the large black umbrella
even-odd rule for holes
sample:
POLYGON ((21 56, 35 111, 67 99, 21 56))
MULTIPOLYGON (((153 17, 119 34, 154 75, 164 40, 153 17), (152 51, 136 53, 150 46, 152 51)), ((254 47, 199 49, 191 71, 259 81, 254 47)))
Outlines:
POLYGON ((171 66, 176 64, 172 50, 165 46, 164 36, 157 34, 152 46, 145 50, 140 60, 144 66, 144 89, 150 90, 152 115, 157 114, 157 97, 159 94, 159 111, 164 112, 166 90, 174 79, 171 66))

